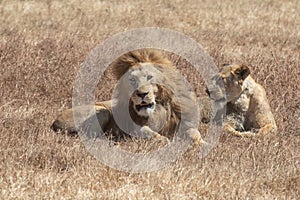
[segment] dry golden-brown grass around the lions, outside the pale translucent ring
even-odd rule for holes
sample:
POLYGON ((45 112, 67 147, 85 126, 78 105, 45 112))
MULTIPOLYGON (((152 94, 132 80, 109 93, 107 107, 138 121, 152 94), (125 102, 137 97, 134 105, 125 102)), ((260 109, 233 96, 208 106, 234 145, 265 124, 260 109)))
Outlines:
MULTIPOLYGON (((0 198, 299 198, 299 10, 298 0, 0 1, 0 198), (99 163, 80 139, 51 131, 58 112, 71 106, 88 52, 145 26, 187 34, 217 65, 250 65, 267 88, 278 133, 223 135, 205 159, 191 147, 161 171, 129 174, 99 163)), ((204 85, 182 71, 201 93, 204 85)), ((110 87, 103 84, 100 100, 110 87)))

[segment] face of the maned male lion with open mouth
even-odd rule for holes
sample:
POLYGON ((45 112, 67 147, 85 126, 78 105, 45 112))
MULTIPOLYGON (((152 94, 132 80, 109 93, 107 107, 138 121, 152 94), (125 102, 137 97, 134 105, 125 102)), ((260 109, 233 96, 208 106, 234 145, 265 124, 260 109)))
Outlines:
POLYGON ((134 91, 130 99, 138 115, 148 117, 154 112, 160 75, 161 72, 150 63, 141 63, 128 71, 128 83, 134 91))

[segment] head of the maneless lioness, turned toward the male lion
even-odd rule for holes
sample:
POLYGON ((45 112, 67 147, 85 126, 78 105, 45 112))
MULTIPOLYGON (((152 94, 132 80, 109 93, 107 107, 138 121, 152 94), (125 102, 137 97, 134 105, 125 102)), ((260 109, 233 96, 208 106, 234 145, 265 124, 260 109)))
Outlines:
POLYGON ((243 92, 243 82, 250 74, 245 65, 225 65, 207 86, 209 96, 214 100, 226 98, 230 102, 243 92))

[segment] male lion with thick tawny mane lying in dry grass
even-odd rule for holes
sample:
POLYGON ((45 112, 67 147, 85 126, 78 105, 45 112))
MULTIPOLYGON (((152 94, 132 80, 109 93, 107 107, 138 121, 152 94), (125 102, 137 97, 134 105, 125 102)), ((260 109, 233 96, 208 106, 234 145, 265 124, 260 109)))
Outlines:
MULTIPOLYGON (((185 88, 176 68, 160 51, 129 52, 112 64, 112 71, 118 79, 115 95, 112 100, 95 104, 103 132, 116 137, 135 132, 144 138, 170 139, 180 125, 188 138, 196 143, 202 142, 194 92, 185 88), (183 116, 189 120, 181 123, 183 116)), ((74 109, 84 110, 85 106, 63 111, 52 128, 55 131, 77 131, 73 122, 74 109)))

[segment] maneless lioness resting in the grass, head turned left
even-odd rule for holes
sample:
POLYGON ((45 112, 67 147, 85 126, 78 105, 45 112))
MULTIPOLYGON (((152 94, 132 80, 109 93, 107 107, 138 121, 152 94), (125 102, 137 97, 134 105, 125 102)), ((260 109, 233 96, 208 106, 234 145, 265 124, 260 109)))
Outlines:
POLYGON ((224 65, 211 79, 207 93, 215 101, 226 99, 225 131, 253 136, 277 130, 266 92, 250 76, 247 66, 224 65))

